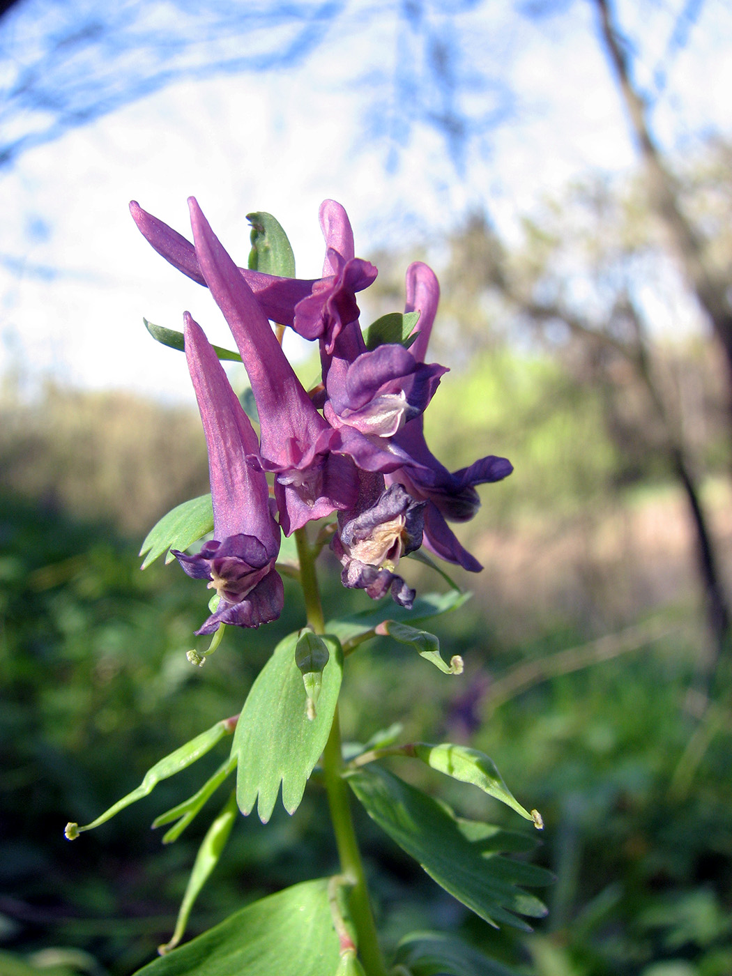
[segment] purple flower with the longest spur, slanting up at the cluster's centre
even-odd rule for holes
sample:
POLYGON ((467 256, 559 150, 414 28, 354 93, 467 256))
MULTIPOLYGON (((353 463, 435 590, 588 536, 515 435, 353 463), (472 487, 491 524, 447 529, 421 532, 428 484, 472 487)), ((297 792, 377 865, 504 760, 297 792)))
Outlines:
POLYGON ((331 453, 332 427, 313 406, 257 298, 195 199, 188 204, 201 273, 224 313, 257 401, 262 443, 250 463, 275 472, 280 521, 290 535, 311 519, 353 505, 355 468, 344 452, 331 453))

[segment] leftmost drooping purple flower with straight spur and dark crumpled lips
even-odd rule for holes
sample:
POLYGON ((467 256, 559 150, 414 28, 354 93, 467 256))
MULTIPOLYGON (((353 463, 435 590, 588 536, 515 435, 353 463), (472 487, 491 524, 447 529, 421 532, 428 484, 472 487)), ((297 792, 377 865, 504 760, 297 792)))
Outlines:
POLYGON ((195 579, 209 580, 220 601, 196 633, 220 624, 259 627, 282 611, 284 589, 274 563, 279 526, 263 471, 247 464, 259 449, 249 418, 201 327, 184 315, 185 357, 206 435, 214 507, 214 539, 195 555, 173 554, 195 579))

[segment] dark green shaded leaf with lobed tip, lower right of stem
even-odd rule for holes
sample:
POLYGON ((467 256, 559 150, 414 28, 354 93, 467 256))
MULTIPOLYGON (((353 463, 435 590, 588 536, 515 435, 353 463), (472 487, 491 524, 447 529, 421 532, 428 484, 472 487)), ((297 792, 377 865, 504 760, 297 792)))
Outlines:
POLYGON ((502 857, 480 840, 471 841, 449 807, 386 769, 373 765, 359 769, 347 782, 386 834, 445 891, 489 924, 505 922, 530 931, 516 915, 547 915, 542 902, 522 891, 517 883, 535 884, 545 876, 549 880, 549 872, 502 857), (531 869, 528 873, 527 868, 531 869))

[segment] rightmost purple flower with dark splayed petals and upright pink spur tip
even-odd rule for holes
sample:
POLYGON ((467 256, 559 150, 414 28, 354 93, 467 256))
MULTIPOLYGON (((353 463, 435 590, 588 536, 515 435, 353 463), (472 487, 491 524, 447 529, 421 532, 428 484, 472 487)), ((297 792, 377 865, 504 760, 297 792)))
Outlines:
MULTIPOLYGON (((410 264, 406 292, 405 310, 420 312, 419 331, 412 352, 421 361, 427 353, 429 334, 439 302, 439 284, 427 264, 410 264)), ((469 468, 451 473, 427 447, 422 414, 394 434, 393 444, 416 464, 405 465, 387 474, 386 480, 403 484, 413 498, 427 502, 424 514, 426 548, 448 562, 459 563, 472 573, 479 572, 483 567, 460 544, 446 519, 464 522, 472 518, 480 507, 475 485, 501 481, 513 470, 510 462, 506 458, 489 455, 469 468)))

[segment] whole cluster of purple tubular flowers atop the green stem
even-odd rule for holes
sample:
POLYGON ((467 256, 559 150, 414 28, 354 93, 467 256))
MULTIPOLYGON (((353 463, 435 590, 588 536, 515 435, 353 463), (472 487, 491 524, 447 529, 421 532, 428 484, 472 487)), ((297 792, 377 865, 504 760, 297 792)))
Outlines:
POLYGON ((489 456, 450 472, 427 447, 423 414, 446 372, 425 362, 439 301, 433 271, 421 262, 407 269, 405 310, 419 312, 413 345, 367 348, 356 293, 374 281, 377 269, 355 257, 340 204, 326 200, 320 208, 326 255, 315 280, 237 267, 195 199, 188 205, 192 244, 137 203, 130 209, 158 254, 211 291, 260 417, 258 439, 213 346, 185 312, 185 354, 208 447, 214 539, 195 555, 175 555, 186 573, 207 579, 220 596, 198 632, 274 620, 284 599, 275 568, 280 528, 290 535, 334 511, 332 545, 346 587, 374 598, 390 592, 410 607, 414 590, 396 568, 402 555, 423 544, 449 562, 480 570, 447 522, 472 518, 480 505, 475 486, 499 481, 512 468, 505 458, 489 456), (318 343, 323 382, 312 395, 270 320, 318 343))

